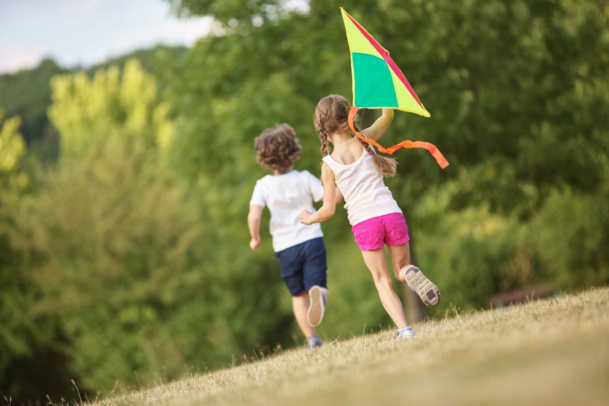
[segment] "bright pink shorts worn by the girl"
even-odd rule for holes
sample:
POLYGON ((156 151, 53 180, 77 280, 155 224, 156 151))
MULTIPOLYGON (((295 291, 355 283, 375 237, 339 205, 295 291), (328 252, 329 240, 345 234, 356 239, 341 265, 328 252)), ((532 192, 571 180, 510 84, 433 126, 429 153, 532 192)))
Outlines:
POLYGON ((401 213, 390 213, 357 223, 351 228, 362 251, 378 250, 385 244, 401 245, 410 240, 408 225, 401 213))

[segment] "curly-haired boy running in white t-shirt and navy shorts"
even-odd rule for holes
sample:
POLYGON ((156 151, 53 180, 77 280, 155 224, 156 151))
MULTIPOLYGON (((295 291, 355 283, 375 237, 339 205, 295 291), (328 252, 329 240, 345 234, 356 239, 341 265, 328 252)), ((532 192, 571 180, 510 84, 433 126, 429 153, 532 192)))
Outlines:
POLYGON ((322 322, 326 289, 326 249, 319 224, 306 226, 298 216, 303 209, 315 212, 313 201, 323 197, 318 178, 306 170, 294 170, 300 158, 300 145, 294 128, 281 124, 262 131, 254 141, 256 161, 272 170, 256 182, 250 201, 247 224, 250 248, 260 246, 260 218, 264 206, 270 211, 273 250, 281 267, 281 278, 292 295, 294 317, 307 339, 309 350, 323 346, 315 327, 322 322))

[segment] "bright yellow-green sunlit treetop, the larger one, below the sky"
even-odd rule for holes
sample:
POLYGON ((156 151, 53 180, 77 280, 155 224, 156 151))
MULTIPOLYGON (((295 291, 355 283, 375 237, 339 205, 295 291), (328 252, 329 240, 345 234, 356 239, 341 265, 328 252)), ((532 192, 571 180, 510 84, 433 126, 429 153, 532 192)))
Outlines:
POLYGON ((62 134, 62 156, 79 156, 108 139, 134 138, 167 149, 173 138, 169 105, 157 99, 157 83, 138 60, 116 66, 56 76, 51 80, 53 104, 49 119, 62 134))

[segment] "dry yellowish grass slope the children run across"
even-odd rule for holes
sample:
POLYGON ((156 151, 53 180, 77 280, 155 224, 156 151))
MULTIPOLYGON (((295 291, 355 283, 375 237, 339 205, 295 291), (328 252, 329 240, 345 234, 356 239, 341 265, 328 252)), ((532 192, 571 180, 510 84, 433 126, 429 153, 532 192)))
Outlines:
POLYGON ((609 404, 609 289, 453 313, 94 405, 609 404))

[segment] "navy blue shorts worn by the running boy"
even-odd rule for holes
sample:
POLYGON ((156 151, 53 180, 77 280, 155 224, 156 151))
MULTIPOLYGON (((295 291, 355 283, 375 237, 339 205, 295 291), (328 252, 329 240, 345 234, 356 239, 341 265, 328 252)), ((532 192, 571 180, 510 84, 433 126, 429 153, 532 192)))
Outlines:
POLYGON ((275 253, 281 267, 281 278, 292 296, 308 292, 311 287, 326 287, 326 247, 323 238, 305 241, 275 253))

